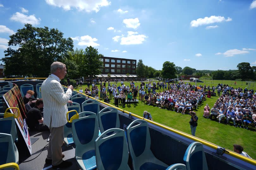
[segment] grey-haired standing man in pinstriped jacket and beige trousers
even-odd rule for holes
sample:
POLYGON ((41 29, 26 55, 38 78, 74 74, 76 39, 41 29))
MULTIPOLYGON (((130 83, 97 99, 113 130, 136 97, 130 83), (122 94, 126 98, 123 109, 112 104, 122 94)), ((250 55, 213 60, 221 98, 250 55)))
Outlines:
POLYGON ((46 164, 52 163, 52 168, 65 168, 72 166, 72 162, 63 161, 61 146, 64 141, 64 125, 67 123, 66 113, 68 112, 67 104, 72 103, 73 86, 68 86, 64 93, 60 80, 66 74, 66 65, 61 62, 53 62, 51 65, 51 75, 43 82, 41 94, 44 101, 44 121, 49 127, 51 134, 49 136, 48 154, 46 164))

